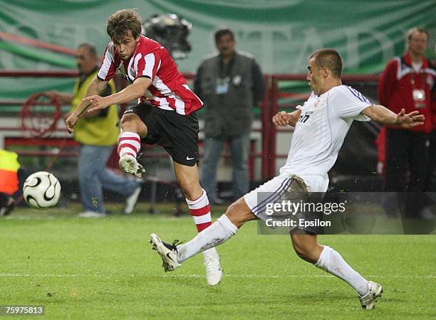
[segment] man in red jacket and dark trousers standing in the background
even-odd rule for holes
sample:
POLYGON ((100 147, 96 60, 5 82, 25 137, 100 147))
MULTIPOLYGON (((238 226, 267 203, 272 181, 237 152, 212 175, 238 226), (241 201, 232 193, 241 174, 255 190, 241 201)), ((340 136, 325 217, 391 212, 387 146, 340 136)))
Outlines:
MULTIPOLYGON (((428 40, 425 29, 411 28, 405 55, 390 60, 380 77, 378 97, 381 105, 396 113, 404 108, 406 113, 417 110, 425 115, 422 126, 411 129, 387 127, 385 191, 415 193, 425 189, 429 170, 429 132, 432 130, 431 92, 436 75, 425 58, 428 40)), ((420 209, 412 208, 416 199, 414 203, 413 199, 410 200, 406 199, 405 213, 413 216, 420 209)))

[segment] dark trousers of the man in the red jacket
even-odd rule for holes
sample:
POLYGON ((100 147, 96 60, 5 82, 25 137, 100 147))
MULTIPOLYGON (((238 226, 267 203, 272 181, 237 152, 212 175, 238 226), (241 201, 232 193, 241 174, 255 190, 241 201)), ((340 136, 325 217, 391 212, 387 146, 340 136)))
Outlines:
MULTIPOLYGON (((429 135, 422 132, 388 129, 386 132, 385 191, 398 192, 398 206, 403 215, 417 218, 424 201, 430 170, 429 135)), ((388 215, 394 208, 385 203, 388 215)))

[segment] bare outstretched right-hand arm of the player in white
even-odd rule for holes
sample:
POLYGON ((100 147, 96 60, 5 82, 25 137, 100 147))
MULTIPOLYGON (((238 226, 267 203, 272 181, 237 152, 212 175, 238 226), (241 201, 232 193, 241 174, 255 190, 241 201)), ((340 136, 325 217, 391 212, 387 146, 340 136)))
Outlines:
POLYGON ((419 114, 417 111, 412 111, 408 114, 402 109, 398 114, 390 111, 383 105, 370 105, 360 112, 373 119, 380 124, 391 124, 402 127, 403 129, 409 129, 412 127, 420 126, 424 124, 424 115, 419 114))

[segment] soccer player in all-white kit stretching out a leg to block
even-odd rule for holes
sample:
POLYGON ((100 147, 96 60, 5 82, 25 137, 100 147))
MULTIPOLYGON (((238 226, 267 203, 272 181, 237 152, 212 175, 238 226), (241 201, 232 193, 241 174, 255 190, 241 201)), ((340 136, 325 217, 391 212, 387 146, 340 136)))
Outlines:
MULTIPOLYGON (((357 90, 342 85, 342 58, 336 50, 322 49, 308 58, 308 85, 311 96, 295 112, 279 112, 273 122, 295 127, 286 164, 280 175, 234 202, 209 228, 182 245, 168 244, 152 234, 150 242, 162 258, 165 271, 177 269, 188 258, 202 250, 215 247, 237 233, 246 221, 265 220, 265 203, 258 203, 259 193, 272 193, 269 201, 286 199, 286 194, 326 192, 327 172, 341 149, 353 120, 373 119, 382 124, 403 128, 421 125, 424 116, 418 112, 393 113, 381 105, 373 105, 357 90)), ((291 230, 291 240, 297 255, 326 272, 350 284, 358 292, 365 309, 373 309, 375 299, 383 291, 380 284, 368 281, 348 265, 333 248, 320 245, 316 232, 309 228, 291 230)))

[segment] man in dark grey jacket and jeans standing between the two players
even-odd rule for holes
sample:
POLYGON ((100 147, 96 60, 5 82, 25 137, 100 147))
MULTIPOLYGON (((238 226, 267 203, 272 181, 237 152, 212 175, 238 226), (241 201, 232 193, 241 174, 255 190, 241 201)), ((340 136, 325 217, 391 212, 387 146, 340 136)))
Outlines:
POLYGON ((204 102, 204 159, 202 186, 217 202, 217 164, 229 142, 233 165, 233 196, 249 191, 249 145, 253 106, 264 97, 264 76, 254 58, 235 50, 229 28, 215 32, 218 54, 206 58, 197 70, 194 92, 204 102))

